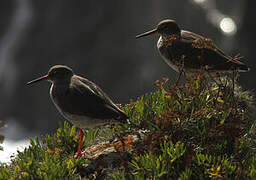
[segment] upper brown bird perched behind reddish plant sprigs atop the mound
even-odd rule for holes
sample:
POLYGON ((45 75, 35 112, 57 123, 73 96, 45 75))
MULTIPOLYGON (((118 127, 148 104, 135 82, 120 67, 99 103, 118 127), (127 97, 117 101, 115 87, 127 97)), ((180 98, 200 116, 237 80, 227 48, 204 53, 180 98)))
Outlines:
POLYGON ((164 61, 175 71, 186 74, 247 72, 249 68, 240 61, 241 56, 225 54, 210 38, 181 30, 175 20, 165 19, 155 29, 136 38, 159 34, 157 49, 164 61))

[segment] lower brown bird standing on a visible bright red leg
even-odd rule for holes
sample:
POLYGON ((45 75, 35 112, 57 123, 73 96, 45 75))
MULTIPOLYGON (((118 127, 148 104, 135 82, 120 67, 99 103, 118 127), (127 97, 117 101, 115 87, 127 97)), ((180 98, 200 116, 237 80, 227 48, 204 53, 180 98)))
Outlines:
POLYGON ((101 88, 86 78, 74 74, 65 65, 51 67, 45 76, 28 85, 50 81, 50 97, 60 114, 79 128, 79 145, 75 158, 81 157, 84 128, 98 127, 110 121, 127 123, 128 116, 113 103, 101 88))

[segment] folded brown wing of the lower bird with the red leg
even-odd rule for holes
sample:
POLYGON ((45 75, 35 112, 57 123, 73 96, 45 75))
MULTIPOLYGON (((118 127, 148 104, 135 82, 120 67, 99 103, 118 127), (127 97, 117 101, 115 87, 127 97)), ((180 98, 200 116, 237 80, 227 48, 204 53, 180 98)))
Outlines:
MULTIPOLYGON (((92 118, 127 119, 127 116, 111 101, 99 86, 88 79, 76 76, 78 84, 71 85, 70 91, 76 94, 81 113, 92 118)), ((73 104, 77 106, 76 104, 73 104)))

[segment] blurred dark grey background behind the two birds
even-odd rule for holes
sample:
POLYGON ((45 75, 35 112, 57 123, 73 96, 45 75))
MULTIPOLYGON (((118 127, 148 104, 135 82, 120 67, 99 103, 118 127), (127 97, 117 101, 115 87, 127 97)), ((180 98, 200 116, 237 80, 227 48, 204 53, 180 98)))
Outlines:
POLYGON ((0 119, 10 139, 51 132, 63 117, 49 97, 50 84, 26 86, 55 64, 65 64, 98 84, 116 103, 153 89, 177 73, 156 49, 158 36, 135 39, 162 19, 212 38, 230 55, 240 53, 251 71, 240 76, 255 88, 255 3, 244 0, 5 0, 0 1, 0 119), (230 17, 233 34, 220 29, 230 17))

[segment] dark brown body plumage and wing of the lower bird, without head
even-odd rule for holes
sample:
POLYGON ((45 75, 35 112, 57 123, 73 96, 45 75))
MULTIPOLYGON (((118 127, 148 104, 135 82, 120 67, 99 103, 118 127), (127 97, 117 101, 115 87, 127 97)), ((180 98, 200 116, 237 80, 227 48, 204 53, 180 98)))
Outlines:
POLYGON ((96 119, 127 119, 127 116, 93 82, 72 76, 70 83, 53 84, 52 97, 62 111, 96 119))

